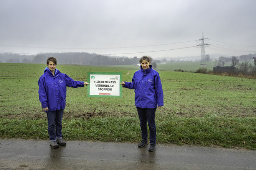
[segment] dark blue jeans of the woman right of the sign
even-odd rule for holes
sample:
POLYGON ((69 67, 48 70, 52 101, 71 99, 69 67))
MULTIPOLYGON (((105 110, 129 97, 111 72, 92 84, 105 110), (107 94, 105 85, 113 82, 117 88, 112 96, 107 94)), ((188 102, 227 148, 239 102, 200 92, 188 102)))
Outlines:
POLYGON ((155 145, 157 139, 157 129, 155 127, 155 110, 156 108, 137 107, 140 118, 140 129, 142 140, 147 141, 147 123, 149 125, 149 141, 155 145))

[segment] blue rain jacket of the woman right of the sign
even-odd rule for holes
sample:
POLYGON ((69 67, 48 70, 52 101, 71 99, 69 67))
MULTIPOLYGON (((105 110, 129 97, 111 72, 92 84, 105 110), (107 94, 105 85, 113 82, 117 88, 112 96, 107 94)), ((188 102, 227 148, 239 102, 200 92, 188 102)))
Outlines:
POLYGON ((150 68, 134 73, 132 82, 126 82, 124 87, 134 89, 135 106, 140 108, 157 108, 164 105, 164 93, 159 73, 150 68))

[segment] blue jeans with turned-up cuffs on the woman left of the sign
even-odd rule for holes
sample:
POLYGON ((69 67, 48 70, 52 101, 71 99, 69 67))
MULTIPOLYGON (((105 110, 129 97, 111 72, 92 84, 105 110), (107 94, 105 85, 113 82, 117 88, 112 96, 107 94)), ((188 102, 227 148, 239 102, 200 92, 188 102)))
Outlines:
POLYGON ((57 139, 62 139, 62 132, 61 132, 62 117, 63 117, 63 109, 47 112, 48 134, 50 136, 51 142, 56 141, 57 139))

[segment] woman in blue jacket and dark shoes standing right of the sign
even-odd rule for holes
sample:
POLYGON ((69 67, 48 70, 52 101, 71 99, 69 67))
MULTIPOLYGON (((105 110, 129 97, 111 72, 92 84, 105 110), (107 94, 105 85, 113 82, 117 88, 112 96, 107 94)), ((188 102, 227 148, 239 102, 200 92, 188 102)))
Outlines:
POLYGON ((147 122, 149 125, 149 151, 155 150, 155 111, 164 105, 164 94, 159 73, 150 65, 150 57, 140 58, 140 70, 134 73, 132 82, 122 82, 122 86, 134 89, 135 106, 140 119, 142 141, 139 147, 147 145, 147 122), (157 107, 158 106, 158 107, 157 107))

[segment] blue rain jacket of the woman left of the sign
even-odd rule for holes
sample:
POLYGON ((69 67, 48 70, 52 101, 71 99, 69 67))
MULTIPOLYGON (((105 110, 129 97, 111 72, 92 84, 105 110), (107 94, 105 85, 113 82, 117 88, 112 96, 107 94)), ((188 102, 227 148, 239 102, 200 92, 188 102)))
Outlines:
POLYGON ((66 106, 66 92, 68 87, 84 87, 83 81, 74 81, 67 74, 55 69, 55 76, 48 67, 38 80, 39 100, 42 108, 49 108, 49 111, 64 109, 66 106))

